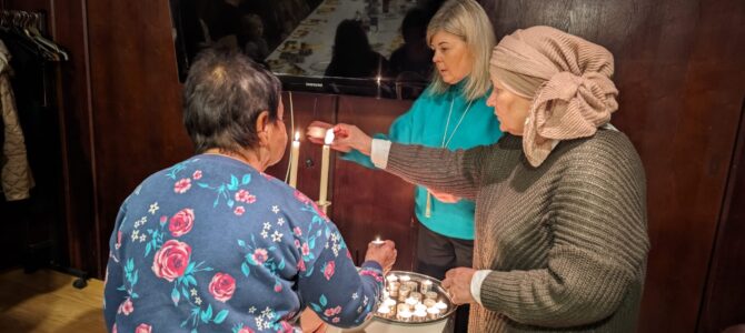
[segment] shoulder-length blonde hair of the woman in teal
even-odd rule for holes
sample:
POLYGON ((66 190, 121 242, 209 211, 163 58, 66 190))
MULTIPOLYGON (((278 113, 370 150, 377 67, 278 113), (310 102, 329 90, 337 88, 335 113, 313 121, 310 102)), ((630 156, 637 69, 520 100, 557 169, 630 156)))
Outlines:
MULTIPOLYGON (((445 31, 463 39, 474 59, 470 74, 466 77, 464 92, 466 100, 473 101, 485 95, 491 88, 489 58, 496 44, 491 22, 475 0, 448 0, 443 3, 427 26, 427 43, 433 37, 445 31)), ((433 93, 444 93, 450 84, 443 81, 438 71, 433 74, 433 93)))

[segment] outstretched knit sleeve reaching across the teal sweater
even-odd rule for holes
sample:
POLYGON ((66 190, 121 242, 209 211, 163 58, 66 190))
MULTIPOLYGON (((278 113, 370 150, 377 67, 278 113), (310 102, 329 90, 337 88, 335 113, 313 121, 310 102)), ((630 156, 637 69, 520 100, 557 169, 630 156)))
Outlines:
POLYGON ((429 189, 476 199, 481 160, 488 147, 449 151, 393 143, 386 171, 429 189))

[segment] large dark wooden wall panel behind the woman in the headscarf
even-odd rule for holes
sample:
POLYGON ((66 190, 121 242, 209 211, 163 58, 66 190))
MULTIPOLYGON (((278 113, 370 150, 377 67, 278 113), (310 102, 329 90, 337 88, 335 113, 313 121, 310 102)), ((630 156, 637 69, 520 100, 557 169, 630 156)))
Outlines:
POLYGON ((545 24, 614 53, 620 109, 613 122, 637 148, 648 183, 652 252, 639 331, 693 331, 745 91, 745 3, 480 2, 498 39, 545 24))

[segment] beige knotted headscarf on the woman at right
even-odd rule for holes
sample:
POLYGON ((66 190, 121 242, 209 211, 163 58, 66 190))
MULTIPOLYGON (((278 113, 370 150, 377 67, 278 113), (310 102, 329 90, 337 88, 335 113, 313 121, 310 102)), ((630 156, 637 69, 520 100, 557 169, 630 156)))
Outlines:
POLYGON ((530 99, 523 150, 538 167, 560 140, 586 138, 618 109, 613 54, 550 27, 517 30, 491 53, 491 74, 530 99))

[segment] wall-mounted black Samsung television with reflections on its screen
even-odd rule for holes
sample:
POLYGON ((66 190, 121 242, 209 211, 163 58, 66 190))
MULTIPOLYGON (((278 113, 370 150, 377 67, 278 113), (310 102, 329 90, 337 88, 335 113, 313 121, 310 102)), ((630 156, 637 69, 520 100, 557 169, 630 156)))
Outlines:
POLYGON ((244 52, 286 90, 415 99, 433 69, 438 0, 170 0, 182 82, 209 47, 244 52))

